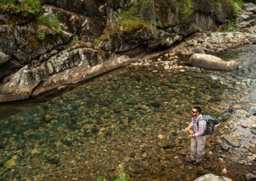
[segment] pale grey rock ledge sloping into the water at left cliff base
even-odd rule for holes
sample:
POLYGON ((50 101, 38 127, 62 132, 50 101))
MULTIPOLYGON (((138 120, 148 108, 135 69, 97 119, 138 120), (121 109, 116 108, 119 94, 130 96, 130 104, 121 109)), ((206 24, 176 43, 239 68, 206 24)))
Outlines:
POLYGON ((0 101, 13 101, 37 96, 62 85, 77 83, 111 69, 125 66, 125 55, 100 54, 90 43, 77 43, 52 56, 42 64, 26 65, 4 79, 0 101))

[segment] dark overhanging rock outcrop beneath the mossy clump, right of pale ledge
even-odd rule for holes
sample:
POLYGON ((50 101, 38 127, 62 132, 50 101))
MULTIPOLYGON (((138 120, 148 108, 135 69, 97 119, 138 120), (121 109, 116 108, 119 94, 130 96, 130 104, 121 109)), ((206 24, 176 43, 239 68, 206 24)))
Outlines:
MULTIPOLYGON (((125 52, 133 48, 143 46, 147 50, 154 50, 157 47, 170 47, 176 41, 182 40, 185 36, 195 33, 216 29, 218 24, 225 22, 226 18, 232 15, 230 4, 225 4, 220 13, 209 1, 193 1, 194 13, 186 22, 179 17, 179 11, 175 8, 163 8, 163 16, 157 16, 157 32, 152 33, 150 29, 138 29, 137 31, 104 34, 104 40, 100 44, 102 50, 125 52), (107 37, 107 38, 106 38, 107 37)), ((170 6, 175 6, 170 4, 170 6)))

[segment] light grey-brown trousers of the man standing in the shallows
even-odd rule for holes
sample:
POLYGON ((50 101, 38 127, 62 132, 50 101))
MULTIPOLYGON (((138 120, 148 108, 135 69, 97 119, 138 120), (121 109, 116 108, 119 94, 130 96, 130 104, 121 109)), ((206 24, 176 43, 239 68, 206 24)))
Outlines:
POLYGON ((202 161, 203 150, 204 150, 206 138, 207 138, 207 135, 195 136, 195 137, 191 138, 191 145, 190 145, 191 160, 195 160, 196 162, 202 161))

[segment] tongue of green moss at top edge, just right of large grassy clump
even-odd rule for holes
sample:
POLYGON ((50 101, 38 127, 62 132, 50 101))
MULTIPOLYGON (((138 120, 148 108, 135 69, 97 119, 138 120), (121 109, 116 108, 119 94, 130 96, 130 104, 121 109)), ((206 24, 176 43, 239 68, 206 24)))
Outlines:
POLYGON ((175 1, 175 6, 179 10, 179 17, 182 22, 186 22, 193 14, 193 3, 191 0, 175 1))

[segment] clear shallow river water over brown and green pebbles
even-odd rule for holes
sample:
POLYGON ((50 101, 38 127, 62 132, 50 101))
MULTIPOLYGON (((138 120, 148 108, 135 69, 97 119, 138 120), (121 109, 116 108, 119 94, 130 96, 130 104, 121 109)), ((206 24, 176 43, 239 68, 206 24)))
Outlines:
POLYGON ((54 97, 0 105, 1 166, 17 156, 13 169, 0 168, 1 180, 93 180, 120 163, 138 180, 198 177, 184 174, 196 169, 186 164, 189 142, 177 131, 188 125, 194 105, 225 123, 231 105, 255 103, 255 48, 220 54, 238 61, 238 71, 127 66, 54 97))

